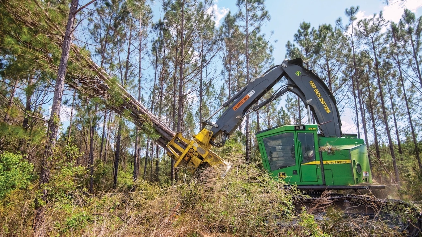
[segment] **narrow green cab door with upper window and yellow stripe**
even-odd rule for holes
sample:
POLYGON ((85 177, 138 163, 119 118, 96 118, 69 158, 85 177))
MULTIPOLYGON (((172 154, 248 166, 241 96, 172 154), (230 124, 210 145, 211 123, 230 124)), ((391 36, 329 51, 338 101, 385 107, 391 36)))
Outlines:
POLYGON ((314 132, 297 132, 298 163, 300 177, 304 184, 322 184, 319 152, 316 150, 317 139, 314 132))

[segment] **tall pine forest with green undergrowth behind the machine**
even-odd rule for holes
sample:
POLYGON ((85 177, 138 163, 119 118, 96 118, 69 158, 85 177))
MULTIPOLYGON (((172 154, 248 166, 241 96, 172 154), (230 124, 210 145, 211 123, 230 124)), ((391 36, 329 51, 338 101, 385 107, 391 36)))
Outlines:
MULTIPOLYGON (((248 78, 281 63, 273 60, 271 35, 261 31, 271 21, 263 0, 238 0, 219 27, 211 0, 164 1, 161 13, 143 0, 0 2, 2 236, 27 236, 40 226, 50 226, 42 234, 78 233, 100 222, 87 215, 92 210, 78 209, 95 198, 109 205, 103 213, 109 221, 122 221, 113 213, 122 200, 113 197, 146 192, 138 200, 145 203, 186 179, 148 123, 137 127, 129 113, 116 113, 123 100, 118 84, 167 127, 191 137, 248 78), (66 42, 73 43, 69 59, 62 54, 66 42), (87 57, 109 76, 108 97, 89 89, 103 81, 85 66, 87 57)), ((302 58, 324 79, 341 113, 350 113, 368 144, 374 180, 395 187, 395 198, 421 201, 422 16, 404 9, 398 22, 382 12, 356 21, 358 11, 339 13, 335 25, 301 23, 285 57, 302 58)), ((303 102, 289 94, 247 116, 215 151, 259 170, 254 133, 308 122, 303 102)), ((162 216, 174 218, 172 208, 162 216)), ((224 231, 238 233, 230 226, 224 231)))

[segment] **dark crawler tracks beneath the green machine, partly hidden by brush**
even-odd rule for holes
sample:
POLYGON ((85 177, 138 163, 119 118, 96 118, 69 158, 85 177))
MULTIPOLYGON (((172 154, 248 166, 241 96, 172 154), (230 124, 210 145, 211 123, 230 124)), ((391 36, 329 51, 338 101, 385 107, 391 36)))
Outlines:
MULTIPOLYGON (((372 231, 376 233, 380 223, 395 230, 401 236, 422 236, 421 212, 413 205, 395 199, 379 199, 369 194, 342 194, 339 191, 303 191, 297 197, 296 211, 306 209, 315 217, 315 221, 324 224, 337 221, 329 213, 337 213, 339 232, 349 229, 372 231), (340 214, 339 214, 340 213, 340 214), (340 216, 341 215, 341 216, 340 216)), ((346 191, 347 192, 347 191, 346 191)), ((334 217, 335 218, 335 217, 334 217)), ((370 234, 371 235, 371 234, 370 234)))

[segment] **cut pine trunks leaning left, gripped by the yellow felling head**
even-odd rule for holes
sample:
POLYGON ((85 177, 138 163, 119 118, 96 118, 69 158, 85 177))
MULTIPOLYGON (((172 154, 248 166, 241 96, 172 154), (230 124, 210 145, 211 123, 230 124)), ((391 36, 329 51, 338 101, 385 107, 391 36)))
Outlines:
MULTIPOLYGON (((78 1, 73 0, 73 2, 78 1)), ((11 13, 11 16, 14 17, 15 21, 22 23, 23 26, 29 28, 41 27, 40 22, 35 18, 35 15, 21 14, 19 11, 11 9, 12 6, 8 4, 5 4, 4 7, 9 13, 11 13)), ((43 9, 38 9, 38 11, 46 14, 43 9)), ((75 11, 78 10, 73 10, 71 12, 74 13, 75 11)), ((73 16, 74 19, 74 15, 70 14, 70 16, 73 16)), ((46 16, 46 19, 49 19, 49 17, 46 16)), ((67 82, 70 83, 70 86, 78 88, 78 90, 85 95, 102 98, 103 103, 108 108, 116 113, 126 116, 147 134, 154 133, 154 135, 159 135, 155 142, 168 151, 166 145, 174 137, 174 135, 176 135, 176 133, 167 127, 161 119, 147 110, 121 85, 116 83, 116 81, 108 75, 105 70, 98 66, 89 57, 87 52, 72 44, 69 37, 65 38, 65 40, 68 39, 68 42, 65 42, 63 37, 60 37, 60 35, 65 35, 65 33, 57 26, 57 22, 48 23, 51 26, 51 32, 46 33, 46 36, 51 39, 51 42, 54 42, 57 46, 63 48, 70 47, 70 50, 73 51, 74 55, 73 57, 69 57, 69 61, 76 66, 73 67, 73 75, 68 77, 69 81, 67 82), (116 101, 116 99, 119 99, 119 101, 116 101), (154 132, 151 132, 151 129, 154 130, 154 132)), ((38 48, 35 46, 31 47, 38 48)), ((64 60, 65 58, 62 57, 62 59, 64 60)), ((52 70, 58 71, 57 65, 51 64, 49 66, 52 70)), ((186 148, 186 144, 181 144, 181 147, 186 148)))

